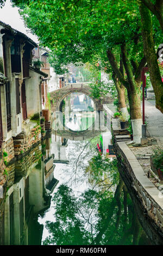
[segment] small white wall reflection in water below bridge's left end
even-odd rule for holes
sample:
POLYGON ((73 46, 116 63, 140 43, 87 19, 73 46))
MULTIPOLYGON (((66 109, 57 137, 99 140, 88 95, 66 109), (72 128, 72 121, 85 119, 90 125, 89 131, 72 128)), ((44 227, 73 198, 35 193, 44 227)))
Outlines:
POLYGON ((54 154, 54 162, 68 163, 66 156, 67 139, 52 135, 52 154, 54 154))

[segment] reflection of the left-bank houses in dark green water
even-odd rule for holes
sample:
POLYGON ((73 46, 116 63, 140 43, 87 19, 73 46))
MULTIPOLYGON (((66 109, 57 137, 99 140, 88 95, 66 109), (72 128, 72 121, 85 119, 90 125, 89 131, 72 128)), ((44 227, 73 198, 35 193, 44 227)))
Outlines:
POLYGON ((8 192, 0 205, 1 245, 41 245, 43 225, 37 215, 49 208, 57 184, 53 156, 48 146, 41 157, 41 145, 30 155, 7 167, 8 192))

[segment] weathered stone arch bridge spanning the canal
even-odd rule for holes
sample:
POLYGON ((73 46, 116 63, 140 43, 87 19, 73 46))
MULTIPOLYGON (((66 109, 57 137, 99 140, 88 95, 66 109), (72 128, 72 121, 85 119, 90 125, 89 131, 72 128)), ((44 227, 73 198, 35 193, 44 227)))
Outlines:
MULTIPOLYGON (((89 83, 68 83, 66 87, 54 90, 50 93, 51 96, 51 110, 53 112, 60 111, 60 105, 64 98, 71 93, 84 93, 87 96, 91 95, 91 88, 89 83)), ((91 96, 90 96, 91 97, 91 96)), ((101 97, 101 99, 93 99, 96 111, 103 111, 103 104, 112 102, 110 95, 101 97)))

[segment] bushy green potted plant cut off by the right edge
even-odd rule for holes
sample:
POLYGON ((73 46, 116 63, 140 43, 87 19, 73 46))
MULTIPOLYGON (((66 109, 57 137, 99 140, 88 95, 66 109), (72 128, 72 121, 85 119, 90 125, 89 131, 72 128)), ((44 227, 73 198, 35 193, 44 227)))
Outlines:
POLYGON ((151 168, 163 180, 163 149, 155 149, 151 158, 151 168))

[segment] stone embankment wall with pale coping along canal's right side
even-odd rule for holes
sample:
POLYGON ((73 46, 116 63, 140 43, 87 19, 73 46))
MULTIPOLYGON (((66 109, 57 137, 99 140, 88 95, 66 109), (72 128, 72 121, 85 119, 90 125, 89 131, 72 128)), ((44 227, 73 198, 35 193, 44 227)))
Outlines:
POLYGON ((145 172, 134 152, 128 147, 130 139, 128 132, 118 129, 115 122, 117 121, 113 119, 112 135, 118 170, 133 200, 139 221, 151 243, 163 245, 163 196, 148 179, 148 172, 145 172))

